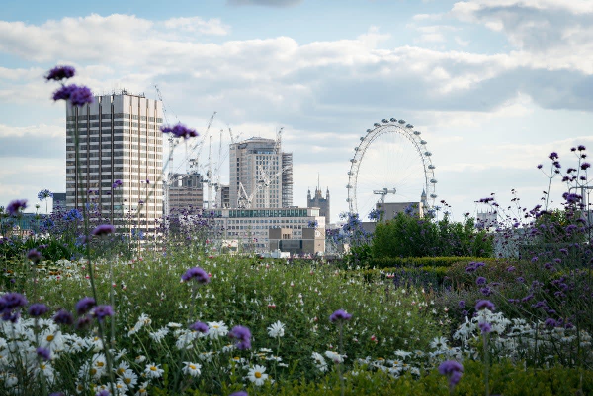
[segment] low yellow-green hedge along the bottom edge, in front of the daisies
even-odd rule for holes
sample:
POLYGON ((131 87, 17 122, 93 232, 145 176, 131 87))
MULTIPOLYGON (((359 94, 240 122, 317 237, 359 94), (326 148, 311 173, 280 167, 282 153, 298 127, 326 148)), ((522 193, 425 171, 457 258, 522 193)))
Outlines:
MULTIPOLYGON (((479 362, 464 362, 461 381, 453 389, 452 395, 475 396, 484 394, 484 366, 479 362)), ((520 366, 520 365, 519 365, 520 366)), ((512 363, 493 365, 489 374, 490 394, 505 396, 575 396, 593 394, 593 371, 567 369, 554 366, 547 369, 521 369, 512 363)), ((394 379, 387 373, 359 371, 347 374, 345 395, 415 395, 449 396, 447 378, 433 370, 420 379, 403 375, 394 379)), ((240 390, 237 385, 224 385, 223 395, 240 390)), ((151 394, 171 395, 160 389, 149 389, 151 394)), ((247 388, 248 394, 257 396, 338 396, 341 393, 336 372, 328 373, 318 381, 304 379, 282 384, 267 382, 257 390, 253 385, 247 388)), ((199 390, 188 390, 186 395, 211 396, 199 390)), ((172 395, 171 395, 172 396, 172 395)))

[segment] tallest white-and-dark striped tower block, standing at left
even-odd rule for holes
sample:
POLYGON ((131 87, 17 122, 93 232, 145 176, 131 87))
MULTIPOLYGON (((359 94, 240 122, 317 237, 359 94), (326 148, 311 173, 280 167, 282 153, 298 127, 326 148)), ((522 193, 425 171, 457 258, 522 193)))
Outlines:
POLYGON ((93 202, 98 221, 152 228, 162 216, 161 117, 161 101, 127 91, 66 104, 66 209, 93 202))

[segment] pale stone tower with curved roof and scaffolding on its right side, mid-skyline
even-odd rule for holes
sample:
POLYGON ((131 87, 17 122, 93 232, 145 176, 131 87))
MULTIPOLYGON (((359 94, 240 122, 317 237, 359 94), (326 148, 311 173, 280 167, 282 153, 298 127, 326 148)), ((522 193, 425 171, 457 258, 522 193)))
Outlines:
POLYGON ((231 207, 240 206, 240 196, 251 198, 246 207, 292 206, 292 154, 282 153, 280 140, 251 138, 229 152, 231 207))

